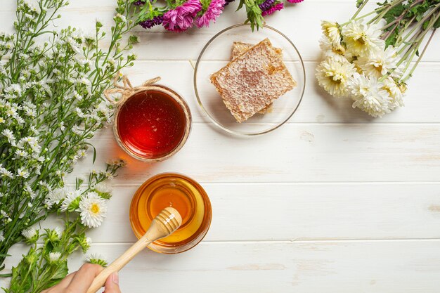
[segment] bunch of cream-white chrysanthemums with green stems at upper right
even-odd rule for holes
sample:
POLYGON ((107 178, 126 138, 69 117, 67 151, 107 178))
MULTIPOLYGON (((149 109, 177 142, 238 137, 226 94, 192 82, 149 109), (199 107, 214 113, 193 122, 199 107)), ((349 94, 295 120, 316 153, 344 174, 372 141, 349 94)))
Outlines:
POLYGON ((330 95, 382 117, 403 105, 406 82, 440 27, 440 1, 386 0, 359 16, 368 1, 357 0, 347 22, 322 22, 324 60, 316 78, 330 95))

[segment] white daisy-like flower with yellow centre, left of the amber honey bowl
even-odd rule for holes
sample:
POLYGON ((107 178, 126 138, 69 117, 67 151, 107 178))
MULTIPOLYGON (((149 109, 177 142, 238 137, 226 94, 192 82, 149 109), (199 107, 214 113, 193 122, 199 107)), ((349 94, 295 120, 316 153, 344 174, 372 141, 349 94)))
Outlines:
POLYGON ((107 216, 107 200, 101 198, 98 193, 87 193, 79 202, 78 211, 81 213, 84 226, 99 227, 107 216))

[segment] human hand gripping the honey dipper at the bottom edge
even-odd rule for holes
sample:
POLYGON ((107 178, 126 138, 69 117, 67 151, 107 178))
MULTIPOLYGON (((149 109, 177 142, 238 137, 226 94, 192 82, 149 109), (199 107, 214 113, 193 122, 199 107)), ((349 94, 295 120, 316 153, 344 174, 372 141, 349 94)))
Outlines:
MULTIPOLYGON (((41 293, 86 293, 95 277, 103 271, 97 264, 86 263, 78 271, 67 275, 58 285, 41 293)), ((112 273, 105 281, 105 293, 121 293, 119 276, 112 273)))

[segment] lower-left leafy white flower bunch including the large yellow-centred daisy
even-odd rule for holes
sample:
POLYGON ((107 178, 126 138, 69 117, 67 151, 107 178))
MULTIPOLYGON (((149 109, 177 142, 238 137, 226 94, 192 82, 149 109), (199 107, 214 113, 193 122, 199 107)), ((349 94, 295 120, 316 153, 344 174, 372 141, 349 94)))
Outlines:
MULTIPOLYGON (((89 250, 91 239, 86 237, 86 230, 101 226, 111 197, 112 188, 105 181, 123 164, 122 160, 115 160, 103 171, 77 178, 75 188, 57 188, 48 194, 46 204, 60 215, 64 227, 40 230, 30 227, 22 231, 30 249, 12 268, 11 285, 4 292, 40 293, 65 278, 68 256, 78 249, 84 254, 89 250)), ((101 257, 93 255, 88 261, 107 265, 101 257)))

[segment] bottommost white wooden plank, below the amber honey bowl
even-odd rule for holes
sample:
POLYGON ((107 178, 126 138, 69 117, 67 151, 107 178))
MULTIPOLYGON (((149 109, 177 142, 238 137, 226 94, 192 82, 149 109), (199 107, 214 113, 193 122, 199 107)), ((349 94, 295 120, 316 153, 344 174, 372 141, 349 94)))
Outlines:
MULTIPOLYGON (((176 255, 143 252, 120 273, 122 292, 438 292, 439 241, 219 242, 176 255)), ((93 245, 115 259, 129 245, 93 245)), ((13 249, 15 258, 22 250, 13 249)), ((13 263, 8 259, 7 265, 13 263)), ((83 257, 75 254, 70 269, 83 257)))

